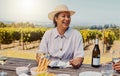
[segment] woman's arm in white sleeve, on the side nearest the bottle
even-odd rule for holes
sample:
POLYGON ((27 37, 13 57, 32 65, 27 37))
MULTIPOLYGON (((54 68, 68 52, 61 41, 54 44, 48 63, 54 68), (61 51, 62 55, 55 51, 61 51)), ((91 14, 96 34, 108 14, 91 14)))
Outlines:
POLYGON ((75 49, 74 49, 74 56, 73 59, 70 60, 70 64, 75 67, 79 68, 84 60, 84 49, 83 49, 83 39, 80 32, 75 32, 75 49))

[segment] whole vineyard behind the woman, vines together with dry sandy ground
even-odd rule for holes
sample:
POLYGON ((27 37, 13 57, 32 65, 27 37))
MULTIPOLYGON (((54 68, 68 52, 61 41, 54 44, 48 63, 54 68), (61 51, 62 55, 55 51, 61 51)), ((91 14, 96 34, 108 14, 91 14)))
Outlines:
MULTIPOLYGON (((51 29, 51 28, 49 28, 51 29)), ((35 51, 37 50, 40 40, 48 28, 0 28, 0 49, 5 50, 7 56, 35 59, 35 51)), ((101 50, 101 62, 110 61, 110 53, 112 49, 120 49, 120 30, 78 30, 83 36, 85 49, 85 64, 91 63, 91 54, 94 47, 95 35, 100 38, 99 46, 101 50), (104 49, 103 49, 104 48, 104 49), (111 49, 112 48, 112 49, 111 49)))

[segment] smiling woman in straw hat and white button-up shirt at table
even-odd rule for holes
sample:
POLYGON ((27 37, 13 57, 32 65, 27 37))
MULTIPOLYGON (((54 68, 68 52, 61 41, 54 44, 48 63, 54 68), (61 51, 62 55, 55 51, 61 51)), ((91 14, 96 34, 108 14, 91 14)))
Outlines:
MULTIPOLYGON (((77 30, 69 27, 74 11, 65 5, 58 5, 48 14, 55 28, 45 32, 38 53, 47 53, 50 60, 69 61, 70 65, 79 68, 84 59, 83 40, 77 30)), ((37 60, 38 54, 36 55, 37 60)))

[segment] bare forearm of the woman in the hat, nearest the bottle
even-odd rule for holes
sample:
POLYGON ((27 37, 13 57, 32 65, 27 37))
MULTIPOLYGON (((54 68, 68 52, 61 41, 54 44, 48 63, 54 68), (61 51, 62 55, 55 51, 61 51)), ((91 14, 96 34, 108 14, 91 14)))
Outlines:
POLYGON ((84 58, 77 57, 72 60, 70 60, 70 65, 72 65, 74 68, 79 68, 83 62, 84 58))

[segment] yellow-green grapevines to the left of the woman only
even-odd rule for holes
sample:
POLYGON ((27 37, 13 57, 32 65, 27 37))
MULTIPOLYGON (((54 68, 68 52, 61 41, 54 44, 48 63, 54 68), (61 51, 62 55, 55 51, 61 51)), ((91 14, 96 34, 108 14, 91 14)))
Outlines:
MULTIPOLYGON (((23 46, 24 50, 26 45, 40 41, 45 31, 46 28, 0 28, 0 49, 2 45, 8 46, 17 42, 17 45, 23 46)), ((16 45, 12 47, 14 46, 16 45)))

